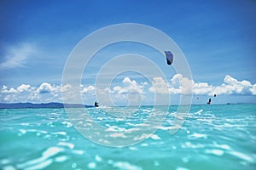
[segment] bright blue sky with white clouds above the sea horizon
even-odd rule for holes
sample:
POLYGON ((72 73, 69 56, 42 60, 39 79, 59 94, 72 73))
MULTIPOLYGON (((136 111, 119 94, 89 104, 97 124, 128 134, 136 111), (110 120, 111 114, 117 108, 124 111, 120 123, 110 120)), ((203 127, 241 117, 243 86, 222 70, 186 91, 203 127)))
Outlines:
MULTIPOLYGON (((61 92, 73 89, 71 84, 62 84, 73 48, 102 27, 137 23, 171 37, 186 57, 193 78, 175 72, 164 58, 155 57, 161 54, 153 48, 136 42, 115 43, 97 52, 84 69, 80 94, 85 105, 96 100, 102 105, 152 105, 155 95, 166 94, 172 104, 178 104, 185 94, 182 86, 187 84, 193 86, 193 104, 206 104, 209 98, 212 104, 256 103, 255 16, 253 0, 2 0, 0 102, 62 102, 61 92), (143 55, 165 77, 154 75, 154 70, 147 75, 124 71, 112 77, 111 84, 98 80, 96 87, 102 65, 121 54, 143 55)), ((132 61, 135 68, 147 67, 139 59, 132 61)), ((125 62, 112 65, 112 71, 128 65, 129 59, 125 62)), ((161 104, 166 105, 165 100, 158 100, 161 104)))

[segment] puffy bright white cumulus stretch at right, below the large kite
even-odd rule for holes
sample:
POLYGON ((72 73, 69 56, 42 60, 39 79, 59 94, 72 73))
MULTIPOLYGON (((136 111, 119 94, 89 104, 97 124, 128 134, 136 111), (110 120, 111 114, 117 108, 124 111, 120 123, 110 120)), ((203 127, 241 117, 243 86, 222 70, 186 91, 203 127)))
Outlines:
POLYGON ((224 77, 224 82, 219 86, 213 86, 207 82, 194 82, 181 74, 176 74, 170 82, 166 82, 162 77, 154 77, 150 92, 158 94, 256 94, 256 84, 246 80, 238 81, 229 75, 224 77), (166 91, 168 88, 168 92, 166 91))

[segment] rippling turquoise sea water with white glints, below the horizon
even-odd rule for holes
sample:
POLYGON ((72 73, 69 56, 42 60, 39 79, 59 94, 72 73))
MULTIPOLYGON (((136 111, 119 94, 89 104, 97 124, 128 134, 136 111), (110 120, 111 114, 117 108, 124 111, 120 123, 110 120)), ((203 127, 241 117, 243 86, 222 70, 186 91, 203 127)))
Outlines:
POLYGON ((153 134, 141 134, 145 139, 141 123, 153 106, 86 108, 87 118, 71 109, 76 122, 65 109, 0 109, 0 169, 256 169, 256 105, 192 105, 174 134, 177 106, 154 109, 166 119, 153 134), (113 140, 92 122, 113 132, 113 140), (91 127, 82 135, 73 123, 91 127), (137 130, 131 144, 129 129, 137 130), (96 136, 127 146, 96 144, 96 136))

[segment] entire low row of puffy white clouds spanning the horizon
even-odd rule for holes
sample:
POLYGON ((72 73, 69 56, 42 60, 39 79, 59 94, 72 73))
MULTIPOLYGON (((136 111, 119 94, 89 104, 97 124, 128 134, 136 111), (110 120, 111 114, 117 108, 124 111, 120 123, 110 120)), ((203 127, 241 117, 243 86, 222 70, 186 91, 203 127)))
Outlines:
MULTIPOLYGON (((136 82, 130 77, 125 77, 117 86, 98 89, 93 85, 84 86, 81 84, 81 96, 84 103, 91 103, 97 98, 108 101, 103 103, 116 103, 119 105, 139 105, 143 99, 151 97, 152 94, 188 94, 187 87, 193 87, 192 93, 196 95, 256 95, 256 84, 246 80, 238 81, 229 75, 224 77, 222 84, 214 86, 207 82, 195 82, 183 77, 181 74, 176 74, 169 82, 162 77, 154 77, 152 82, 136 82), (109 97, 110 96, 110 97, 109 97), (110 99, 110 100, 109 100, 110 99)), ((21 84, 19 87, 8 87, 3 85, 0 92, 1 102, 62 102, 62 92, 70 93, 72 96, 73 87, 66 84, 61 85, 50 84, 43 82, 38 87, 30 84, 21 84)))

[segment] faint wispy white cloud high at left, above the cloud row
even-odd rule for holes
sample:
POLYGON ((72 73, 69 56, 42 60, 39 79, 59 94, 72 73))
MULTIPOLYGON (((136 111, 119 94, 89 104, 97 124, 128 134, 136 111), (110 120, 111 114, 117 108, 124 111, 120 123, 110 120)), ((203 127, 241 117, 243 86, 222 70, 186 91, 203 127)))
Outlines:
POLYGON ((3 56, 6 61, 0 63, 0 69, 25 66, 26 59, 31 57, 35 51, 29 43, 21 43, 19 46, 8 48, 6 56, 3 56))

